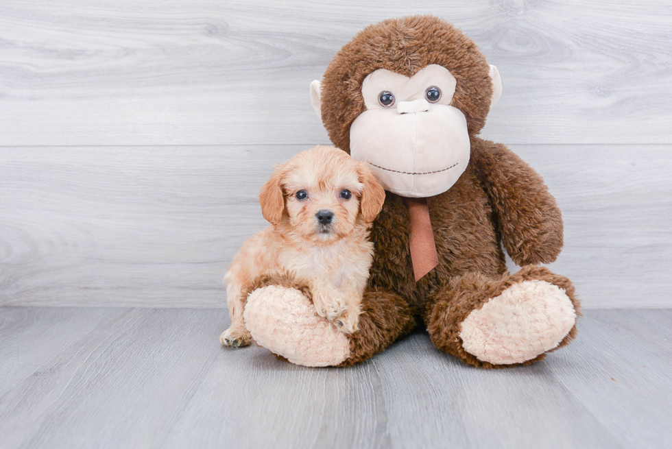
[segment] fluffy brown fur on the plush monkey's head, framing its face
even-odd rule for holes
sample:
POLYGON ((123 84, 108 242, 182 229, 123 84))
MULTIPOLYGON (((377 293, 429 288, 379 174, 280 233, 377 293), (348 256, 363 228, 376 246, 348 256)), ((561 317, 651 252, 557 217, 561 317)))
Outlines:
POLYGON ((327 67, 322 122, 334 145, 350 152, 350 125, 365 110, 361 84, 367 75, 386 69, 411 77, 429 64, 451 71, 457 80, 452 106, 464 113, 469 134, 478 134, 492 97, 485 56, 453 25, 432 16, 411 16, 366 27, 327 67))

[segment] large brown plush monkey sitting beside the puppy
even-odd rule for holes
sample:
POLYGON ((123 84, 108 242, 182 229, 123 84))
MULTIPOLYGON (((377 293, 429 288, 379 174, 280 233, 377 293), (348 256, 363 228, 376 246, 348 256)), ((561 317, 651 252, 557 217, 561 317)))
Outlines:
POLYGON ((424 326, 440 350, 492 368, 575 337, 574 287, 539 265, 562 248, 555 199, 512 151, 478 137, 500 93, 475 43, 433 16, 371 25, 337 53, 311 84, 313 106, 386 191, 359 330, 344 335, 300 291, 270 286, 245 311, 257 343, 301 365, 351 365, 424 326))

